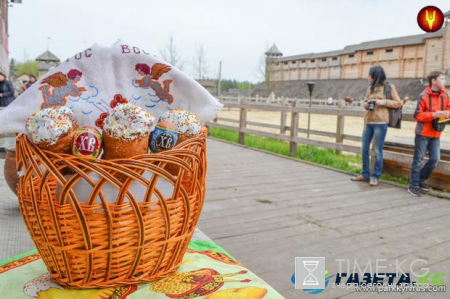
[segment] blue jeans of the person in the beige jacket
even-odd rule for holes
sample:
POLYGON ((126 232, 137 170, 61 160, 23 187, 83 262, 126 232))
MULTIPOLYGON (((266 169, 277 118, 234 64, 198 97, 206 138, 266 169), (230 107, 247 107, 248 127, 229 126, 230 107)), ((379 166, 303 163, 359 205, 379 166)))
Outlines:
POLYGON ((367 179, 369 177, 378 179, 381 176, 381 170, 383 169, 383 146, 386 133, 387 124, 366 124, 364 127, 362 138, 362 175, 367 179), (373 174, 370 175, 370 142, 372 138, 375 143, 375 169, 373 170, 373 174))

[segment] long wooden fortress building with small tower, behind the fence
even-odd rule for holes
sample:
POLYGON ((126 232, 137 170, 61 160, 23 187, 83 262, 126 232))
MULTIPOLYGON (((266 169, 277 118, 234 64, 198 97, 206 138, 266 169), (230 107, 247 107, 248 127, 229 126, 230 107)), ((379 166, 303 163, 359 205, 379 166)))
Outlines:
POLYGON ((266 53, 267 70, 272 81, 365 79, 374 65, 382 66, 390 79, 425 78, 433 70, 449 77, 450 11, 444 16, 444 27, 434 33, 363 42, 338 51, 283 57, 274 45, 266 53))

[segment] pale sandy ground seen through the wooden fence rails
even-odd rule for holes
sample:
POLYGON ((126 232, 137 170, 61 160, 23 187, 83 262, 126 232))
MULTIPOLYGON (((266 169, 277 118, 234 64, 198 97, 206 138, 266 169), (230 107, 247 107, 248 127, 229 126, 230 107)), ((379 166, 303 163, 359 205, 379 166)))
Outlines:
MULTIPOLYGON (((236 108, 224 108, 218 115, 218 123, 235 126, 237 127, 237 123, 232 122, 224 122, 221 121, 220 118, 230 118, 239 120, 239 111, 236 108)), ((273 112, 273 111, 262 111, 262 110, 251 110, 247 112, 247 121, 253 122, 261 122, 266 124, 280 125, 281 113, 273 112)), ((336 123, 337 116, 334 115, 319 115, 312 114, 311 115, 311 130, 315 131, 323 131, 336 133, 336 123)), ((290 114, 287 114, 286 125, 290 125, 290 114)), ((345 117, 344 123, 344 134, 353 135, 353 136, 362 136, 363 130, 363 118, 360 117, 345 117)), ((308 114, 301 113, 299 118, 299 127, 301 129, 306 129, 308 126, 308 114)), ((271 132, 271 133, 280 133, 279 129, 271 129, 264 128, 260 126, 247 126, 249 129, 271 132)), ((400 142, 405 144, 414 144, 414 127, 415 122, 403 121, 401 129, 392 129, 388 130, 386 140, 392 142, 400 142)), ((306 137, 306 133, 299 133, 299 137, 306 137)), ((334 138, 329 138, 325 136, 317 136, 310 135, 310 138, 321 141, 329 141, 334 142, 334 138)), ((360 142, 354 141, 344 141, 345 144, 348 145, 361 145, 360 142)), ((441 148, 450 149, 450 125, 447 126, 446 130, 441 135, 441 148)))

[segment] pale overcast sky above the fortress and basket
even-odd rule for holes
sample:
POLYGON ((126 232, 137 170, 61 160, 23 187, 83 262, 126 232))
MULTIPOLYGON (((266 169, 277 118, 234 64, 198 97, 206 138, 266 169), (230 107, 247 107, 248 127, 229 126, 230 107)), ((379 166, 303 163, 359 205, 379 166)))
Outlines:
POLYGON ((172 36, 195 74, 203 47, 207 76, 262 81, 263 53, 341 50, 361 42, 424 33, 417 13, 450 2, 420 0, 22 0, 9 8, 10 58, 34 60, 49 48, 61 60, 117 39, 161 57, 172 36))

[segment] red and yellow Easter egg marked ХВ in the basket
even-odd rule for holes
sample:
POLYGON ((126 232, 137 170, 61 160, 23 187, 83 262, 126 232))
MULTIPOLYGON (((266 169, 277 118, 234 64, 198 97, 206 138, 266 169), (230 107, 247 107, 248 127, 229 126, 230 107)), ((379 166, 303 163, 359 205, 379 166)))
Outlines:
POLYGON ((102 151, 102 134, 94 127, 81 127, 74 133, 72 152, 75 156, 97 158, 102 151))

